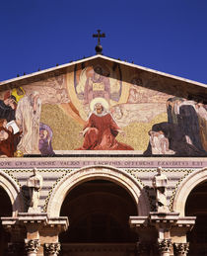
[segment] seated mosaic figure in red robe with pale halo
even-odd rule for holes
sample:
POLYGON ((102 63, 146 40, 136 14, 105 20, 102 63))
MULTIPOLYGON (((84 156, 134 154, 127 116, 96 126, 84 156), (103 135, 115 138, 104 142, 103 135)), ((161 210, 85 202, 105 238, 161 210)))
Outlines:
MULTIPOLYGON (((118 132, 124 134, 109 112, 106 111, 107 103, 103 98, 94 99, 91 103, 94 111, 80 133, 84 135, 83 146, 79 150, 133 150, 127 144, 118 142, 118 132)), ((91 107, 92 108, 92 107, 91 107)))

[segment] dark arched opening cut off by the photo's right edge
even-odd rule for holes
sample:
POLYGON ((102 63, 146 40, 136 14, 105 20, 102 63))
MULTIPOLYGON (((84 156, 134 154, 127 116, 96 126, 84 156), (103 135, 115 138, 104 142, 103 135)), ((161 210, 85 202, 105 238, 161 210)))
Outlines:
POLYGON ((197 185, 189 194, 185 215, 196 216, 193 229, 187 234, 189 256, 207 256, 207 181, 197 185))

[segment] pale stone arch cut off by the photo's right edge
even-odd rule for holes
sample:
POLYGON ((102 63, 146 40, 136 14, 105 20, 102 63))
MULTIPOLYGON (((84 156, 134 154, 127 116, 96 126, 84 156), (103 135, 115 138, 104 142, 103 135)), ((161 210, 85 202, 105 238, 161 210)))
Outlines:
POLYGON ((207 181, 207 168, 195 170, 179 185, 173 199, 173 212, 184 216, 185 204, 190 192, 200 183, 207 181))

